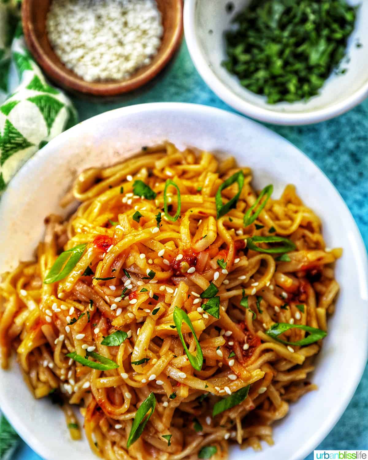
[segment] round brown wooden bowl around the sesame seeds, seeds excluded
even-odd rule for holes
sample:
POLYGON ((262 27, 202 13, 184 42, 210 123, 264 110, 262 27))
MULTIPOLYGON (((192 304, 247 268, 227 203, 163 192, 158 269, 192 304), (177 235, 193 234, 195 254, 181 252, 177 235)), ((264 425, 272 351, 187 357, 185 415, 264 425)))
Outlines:
POLYGON ((94 96, 116 96, 144 85, 169 62, 183 35, 183 0, 156 0, 161 12, 164 33, 158 53, 150 64, 122 81, 84 81, 67 69, 53 51, 46 33, 46 15, 51 0, 23 0, 22 23, 30 52, 45 74, 70 92, 94 96))

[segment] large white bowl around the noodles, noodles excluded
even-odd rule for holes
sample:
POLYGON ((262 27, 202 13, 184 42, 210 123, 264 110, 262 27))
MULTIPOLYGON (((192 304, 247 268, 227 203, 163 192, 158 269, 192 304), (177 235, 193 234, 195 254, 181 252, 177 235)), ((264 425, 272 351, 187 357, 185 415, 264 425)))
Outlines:
MULTIPOLYGON (((59 199, 86 167, 109 165, 126 152, 169 139, 220 157, 234 155, 254 170, 258 188, 274 184, 274 196, 292 182, 322 218, 329 247, 344 248, 336 267, 341 285, 330 332, 312 380, 318 391, 291 404, 275 426, 275 445, 261 453, 234 448, 230 460, 302 460, 328 434, 361 378, 368 349, 367 259, 361 236, 344 201, 326 176, 296 147, 265 127, 219 109, 192 104, 145 104, 84 121, 40 150, 17 173, 0 203, 0 271, 32 257, 43 219, 65 210, 59 199), (341 378, 341 376, 344 378, 341 378), (296 436, 295 433, 298 435, 296 436)), ((0 407, 23 439, 46 460, 94 460, 86 440, 69 439, 62 412, 35 401, 16 362, 0 371, 0 407)))

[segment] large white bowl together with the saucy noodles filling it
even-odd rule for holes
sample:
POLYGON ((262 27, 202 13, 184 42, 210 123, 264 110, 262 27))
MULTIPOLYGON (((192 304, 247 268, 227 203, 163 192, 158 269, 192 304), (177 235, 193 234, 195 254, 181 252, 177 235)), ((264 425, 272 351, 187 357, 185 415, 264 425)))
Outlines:
POLYGON ((364 245, 265 127, 192 104, 98 115, 22 168, 0 216, 0 406, 46 460, 302 460, 349 403, 364 245))

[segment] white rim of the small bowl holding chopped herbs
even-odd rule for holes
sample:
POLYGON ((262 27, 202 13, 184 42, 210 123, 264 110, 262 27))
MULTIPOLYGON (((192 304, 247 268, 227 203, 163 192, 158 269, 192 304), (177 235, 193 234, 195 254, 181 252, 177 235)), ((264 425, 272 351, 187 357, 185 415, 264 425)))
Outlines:
POLYGON ((230 107, 238 112, 256 120, 275 125, 311 125, 321 121, 330 120, 338 115, 351 110, 368 97, 367 81, 343 101, 329 105, 323 109, 311 110, 305 113, 286 113, 268 110, 251 104, 237 96, 226 86, 208 65, 196 33, 196 6, 199 0, 186 0, 184 2, 184 36, 187 42, 190 57, 202 79, 213 92, 230 107))

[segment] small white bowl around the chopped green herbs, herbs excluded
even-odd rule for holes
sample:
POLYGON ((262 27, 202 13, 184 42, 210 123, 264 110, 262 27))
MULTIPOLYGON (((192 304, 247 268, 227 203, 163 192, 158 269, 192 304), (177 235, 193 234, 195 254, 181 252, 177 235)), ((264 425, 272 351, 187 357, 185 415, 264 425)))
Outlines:
POLYGON ((344 75, 331 75, 320 94, 308 102, 267 104, 266 98, 242 87, 221 62, 226 59, 224 31, 231 26, 237 12, 250 0, 232 0, 235 9, 226 13, 224 0, 186 0, 184 33, 190 56, 207 85, 239 112, 276 125, 306 125, 328 120, 352 109, 368 96, 368 1, 348 0, 361 4, 356 28, 349 42, 344 75), (210 32, 212 31, 212 32, 210 32), (362 43, 357 48, 357 41, 362 43))

